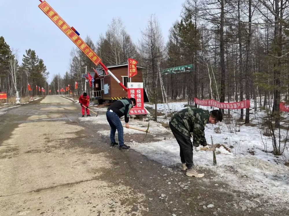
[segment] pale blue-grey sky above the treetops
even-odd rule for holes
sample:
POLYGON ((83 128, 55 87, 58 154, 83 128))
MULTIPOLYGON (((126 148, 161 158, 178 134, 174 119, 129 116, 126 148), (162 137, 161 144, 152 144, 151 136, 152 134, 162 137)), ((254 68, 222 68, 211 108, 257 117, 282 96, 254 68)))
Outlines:
MULTIPOLYGON (((134 43, 141 39, 151 14, 159 20, 164 41, 169 29, 179 19, 184 0, 47 0, 47 3, 79 33, 82 39, 90 36, 94 43, 105 34, 112 18, 120 17, 134 43)), ((22 62, 25 50, 35 50, 50 72, 64 75, 70 52, 76 46, 38 8, 39 0, 0 0, 0 36, 10 48, 18 50, 22 62)))

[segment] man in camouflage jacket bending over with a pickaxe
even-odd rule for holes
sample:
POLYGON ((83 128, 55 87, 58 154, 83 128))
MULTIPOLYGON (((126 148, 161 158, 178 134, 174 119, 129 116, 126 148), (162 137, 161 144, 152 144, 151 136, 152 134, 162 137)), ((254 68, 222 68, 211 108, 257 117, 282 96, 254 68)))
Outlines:
POLYGON ((186 175, 194 177, 203 177, 203 173, 197 173, 193 166, 193 145, 195 150, 200 150, 200 145, 208 148, 205 138, 205 125, 207 123, 216 124, 223 119, 220 110, 208 111, 200 108, 189 107, 173 115, 169 126, 180 146, 181 170, 187 170, 186 175), (193 134, 193 144, 191 134, 193 134))

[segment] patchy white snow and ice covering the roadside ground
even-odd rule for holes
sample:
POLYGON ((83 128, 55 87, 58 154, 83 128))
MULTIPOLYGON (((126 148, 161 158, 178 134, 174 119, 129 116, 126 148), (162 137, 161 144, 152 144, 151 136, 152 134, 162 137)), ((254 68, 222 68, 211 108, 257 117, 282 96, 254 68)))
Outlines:
MULTIPOLYGON (((169 103, 169 107, 173 112, 176 112, 184 109, 184 104, 186 103, 169 103)), ((152 105, 145 106, 153 107, 152 105)), ((159 111, 164 113, 163 104, 158 104, 157 107, 159 111)), ((165 107, 168 109, 167 106, 165 107)), ((210 107, 200 106, 200 108, 211 110, 210 107)), ((97 107, 96 110, 98 110, 97 107)), ((101 111, 105 110, 101 108, 101 111)), ((265 115, 264 112, 260 111, 254 113, 254 110, 250 110, 250 113, 250 119, 253 119, 251 122, 254 124, 260 123, 261 117, 265 115)), ((238 118, 240 111, 231 110, 231 115, 238 118)), ((164 119, 164 116, 158 117, 158 119, 166 123, 169 121, 169 118, 164 119)), ((80 118, 80 120, 101 122, 101 124, 108 125, 105 115, 99 115, 97 118, 80 118)), ((147 127, 147 122, 138 120, 130 120, 129 124, 143 129, 147 127)), ((246 205, 256 206, 264 200, 269 200, 268 204, 275 206, 287 204, 289 200, 289 168, 283 165, 284 161, 281 157, 262 151, 264 145, 266 145, 268 151, 273 150, 270 137, 261 135, 258 126, 242 124, 239 132, 232 128, 232 124, 225 124, 225 120, 217 125, 207 124, 205 137, 208 144, 211 144, 212 137, 214 144, 223 144, 231 149, 231 152, 223 146, 217 148, 217 166, 213 166, 212 151, 194 151, 195 165, 199 167, 199 170, 203 168, 213 170, 216 172, 215 179, 227 182, 234 190, 240 190, 249 195, 258 195, 259 198, 244 204, 245 207, 246 205), (229 128, 231 129, 229 130, 229 128), (221 133, 216 133, 219 131, 221 133)), ((164 128, 160 123, 153 121, 150 122, 150 130, 153 136, 158 137, 154 142, 138 143, 130 140, 126 143, 135 151, 160 162, 164 166, 178 166, 180 164, 179 145, 171 131, 164 128)), ((99 131, 99 133, 109 136, 110 130, 99 131)), ((142 132, 125 128, 124 133, 133 133, 138 136, 137 134, 142 132)), ((288 151, 285 154, 288 154, 288 151)), ((222 187, 222 185, 219 187, 222 187)))

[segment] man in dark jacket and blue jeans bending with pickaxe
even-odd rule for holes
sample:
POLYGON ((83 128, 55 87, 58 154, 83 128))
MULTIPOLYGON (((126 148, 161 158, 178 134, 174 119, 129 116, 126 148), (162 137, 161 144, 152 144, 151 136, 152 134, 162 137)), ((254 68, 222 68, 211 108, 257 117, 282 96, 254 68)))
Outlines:
POLYGON ((123 126, 121 124, 122 116, 125 116, 125 127, 129 128, 129 110, 131 107, 136 105, 136 99, 134 98, 122 98, 121 100, 117 100, 112 105, 108 107, 108 111, 106 112, 106 118, 110 125, 110 146, 118 145, 115 142, 115 132, 117 130, 118 133, 118 142, 119 149, 129 149, 130 146, 124 144, 123 140, 123 126))

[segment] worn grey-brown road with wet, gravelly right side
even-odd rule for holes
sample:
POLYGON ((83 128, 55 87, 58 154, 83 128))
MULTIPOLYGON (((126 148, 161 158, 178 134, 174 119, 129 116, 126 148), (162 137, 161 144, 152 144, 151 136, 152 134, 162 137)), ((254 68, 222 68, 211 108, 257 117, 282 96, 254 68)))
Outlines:
POLYGON ((133 150, 110 148, 109 138, 97 135, 109 128, 80 116, 79 105, 59 96, 0 116, 0 215, 281 213, 236 209, 252 197, 215 181, 217 174, 207 170, 202 179, 190 178, 133 150), (208 204, 214 207, 204 209, 208 204))

